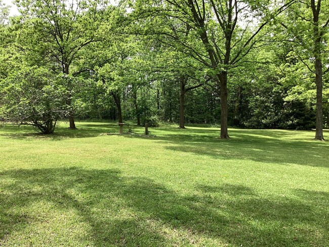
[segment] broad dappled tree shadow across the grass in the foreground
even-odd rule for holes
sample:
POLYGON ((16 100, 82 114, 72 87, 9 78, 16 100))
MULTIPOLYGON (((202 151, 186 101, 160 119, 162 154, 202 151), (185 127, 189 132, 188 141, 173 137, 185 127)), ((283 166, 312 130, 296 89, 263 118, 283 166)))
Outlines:
MULTIPOLYGON (((38 224, 30 210, 39 205, 43 212, 45 202, 57 214, 73 211, 73 225, 89 226, 87 235, 69 236, 73 245, 81 237, 96 246, 329 243, 329 215, 323 207, 327 192, 304 190, 296 191, 296 197, 267 198, 241 185, 196 184, 188 194, 180 194, 145 177, 77 168, 5 171, 0 176, 0 245, 17 231, 38 234, 38 228, 28 228, 38 224)), ((40 241, 52 243, 51 233, 63 227, 57 224, 48 226, 49 234, 40 241)))

